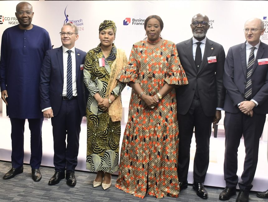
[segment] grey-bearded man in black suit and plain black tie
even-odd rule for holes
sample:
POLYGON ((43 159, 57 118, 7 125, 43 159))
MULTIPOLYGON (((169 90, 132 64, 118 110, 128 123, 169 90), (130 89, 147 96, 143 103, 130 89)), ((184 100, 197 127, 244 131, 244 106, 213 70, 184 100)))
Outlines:
POLYGON ((209 163, 211 124, 221 119, 225 90, 223 46, 209 40, 208 17, 197 14, 192 18, 193 37, 178 43, 177 50, 189 84, 176 89, 179 123, 178 175, 180 189, 188 187, 187 175, 190 161, 190 144, 193 130, 196 140, 193 189, 207 199, 203 186, 209 163), (194 129, 195 128, 195 129, 194 129))

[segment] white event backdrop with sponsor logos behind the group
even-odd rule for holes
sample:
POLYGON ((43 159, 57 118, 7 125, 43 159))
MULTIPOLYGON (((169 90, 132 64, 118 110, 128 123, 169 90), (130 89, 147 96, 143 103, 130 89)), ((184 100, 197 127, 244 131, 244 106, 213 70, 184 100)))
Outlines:
MULTIPOLYGON (((0 1, 0 37, 3 31, 17 25, 16 5, 21 1, 0 1)), ((117 26, 115 45, 129 55, 132 45, 145 36, 144 21, 158 15, 164 22, 161 36, 175 43, 192 37, 191 19, 197 13, 209 17, 207 37, 230 46, 245 41, 243 32, 247 19, 258 17, 265 23, 261 41, 268 44, 268 1, 28 1, 33 6, 32 23, 45 28, 53 47, 61 46, 60 30, 65 22, 79 27, 75 46, 84 51, 99 43, 98 27, 103 20, 113 20, 117 26)), ((122 93, 123 105, 129 102, 130 89, 122 93)))

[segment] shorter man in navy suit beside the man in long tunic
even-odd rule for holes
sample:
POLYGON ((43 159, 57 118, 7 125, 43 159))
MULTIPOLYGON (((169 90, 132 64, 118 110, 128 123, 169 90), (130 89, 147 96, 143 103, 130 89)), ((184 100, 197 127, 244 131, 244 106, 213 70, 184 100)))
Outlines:
POLYGON ((78 40, 78 27, 74 24, 66 23, 60 36, 62 46, 46 52, 40 79, 41 109, 45 118, 51 118, 54 140, 55 173, 48 184, 55 185, 66 178, 68 185, 75 186, 80 125, 86 109, 86 52, 74 47, 78 40))

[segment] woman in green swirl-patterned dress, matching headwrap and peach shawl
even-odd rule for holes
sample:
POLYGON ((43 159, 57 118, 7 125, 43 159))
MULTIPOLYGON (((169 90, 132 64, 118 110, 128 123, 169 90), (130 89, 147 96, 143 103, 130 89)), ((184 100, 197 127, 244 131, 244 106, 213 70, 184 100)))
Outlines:
POLYGON ((84 83, 89 90, 87 101, 87 162, 86 168, 97 171, 93 187, 111 186, 111 173, 118 169, 121 134, 121 92, 125 84, 116 76, 127 64, 123 50, 117 49, 116 26, 104 20, 99 26, 100 44, 89 50, 84 64, 84 83))

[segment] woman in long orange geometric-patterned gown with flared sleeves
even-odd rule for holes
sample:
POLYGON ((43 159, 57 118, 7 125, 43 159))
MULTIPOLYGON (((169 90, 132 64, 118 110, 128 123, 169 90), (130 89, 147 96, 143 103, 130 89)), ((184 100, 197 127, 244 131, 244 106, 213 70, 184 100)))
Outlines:
POLYGON ((179 129, 175 89, 188 84, 173 42, 163 40, 163 21, 146 18, 147 40, 132 47, 117 79, 132 87, 116 187, 143 198, 178 197, 179 129))

